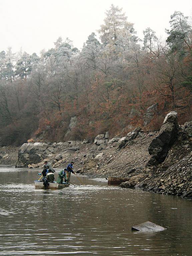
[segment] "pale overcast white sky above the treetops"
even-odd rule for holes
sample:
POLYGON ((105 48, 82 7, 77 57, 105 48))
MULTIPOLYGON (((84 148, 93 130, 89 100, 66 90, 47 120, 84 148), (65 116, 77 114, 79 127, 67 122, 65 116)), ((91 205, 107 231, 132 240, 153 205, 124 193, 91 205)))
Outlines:
POLYGON ((174 11, 192 16, 191 0, 0 0, 0 51, 11 46, 13 52, 22 47, 39 54, 53 47, 59 36, 69 37, 80 49, 103 24, 111 4, 123 8, 141 39, 147 27, 165 38, 174 11))

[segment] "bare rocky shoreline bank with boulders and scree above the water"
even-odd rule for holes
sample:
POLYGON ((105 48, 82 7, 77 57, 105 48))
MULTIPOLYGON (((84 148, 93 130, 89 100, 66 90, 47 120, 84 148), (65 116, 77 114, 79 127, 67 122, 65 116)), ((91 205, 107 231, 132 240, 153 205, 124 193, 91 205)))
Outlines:
POLYGON ((1 155, 8 154, 9 160, 2 157, 0 164, 15 160, 17 167, 35 168, 48 159, 54 168, 65 168, 73 160, 75 171, 88 177, 127 177, 121 187, 192 197, 192 122, 179 126, 176 112, 166 116, 159 133, 136 128, 122 138, 100 134, 94 143, 25 143, 19 150, 3 148, 1 155))

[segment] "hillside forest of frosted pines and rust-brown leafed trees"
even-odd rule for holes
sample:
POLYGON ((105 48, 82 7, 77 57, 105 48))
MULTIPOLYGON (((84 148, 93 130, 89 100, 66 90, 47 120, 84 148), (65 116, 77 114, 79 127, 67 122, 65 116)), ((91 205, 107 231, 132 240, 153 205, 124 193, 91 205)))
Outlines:
POLYGON ((43 131, 48 142, 64 141, 71 117, 78 122, 74 140, 105 131, 123 135, 136 126, 158 130, 171 110, 180 124, 191 120, 192 27, 179 11, 169 25, 166 42, 151 28, 142 41, 122 9, 111 5, 100 38, 91 33, 82 50, 61 37, 40 56, 2 49, 1 145, 22 144, 43 131), (146 110, 153 104, 149 122, 146 110))

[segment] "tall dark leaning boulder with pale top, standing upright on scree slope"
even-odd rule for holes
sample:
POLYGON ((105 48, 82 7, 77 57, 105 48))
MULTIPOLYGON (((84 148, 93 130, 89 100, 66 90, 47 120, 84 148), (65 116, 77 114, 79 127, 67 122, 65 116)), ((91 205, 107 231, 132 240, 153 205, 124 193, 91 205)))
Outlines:
POLYGON ((159 134, 154 138, 148 148, 149 154, 152 155, 148 161, 148 166, 162 163, 170 147, 178 137, 178 118, 177 112, 172 111, 166 115, 159 134))

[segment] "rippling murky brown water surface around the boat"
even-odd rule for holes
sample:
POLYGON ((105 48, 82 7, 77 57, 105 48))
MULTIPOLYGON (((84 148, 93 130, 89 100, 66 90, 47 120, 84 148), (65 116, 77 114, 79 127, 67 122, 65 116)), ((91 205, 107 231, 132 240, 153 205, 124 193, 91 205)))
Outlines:
POLYGON ((0 168, 0 255, 192 255, 192 201, 85 177, 35 190, 37 173, 0 168), (148 220, 167 230, 131 232, 148 220))

